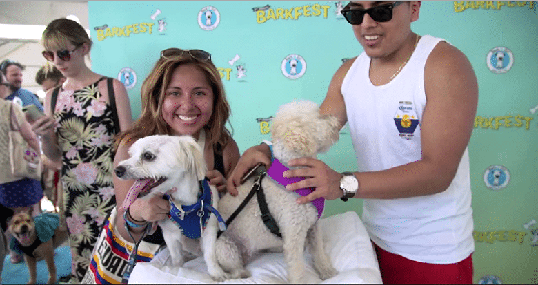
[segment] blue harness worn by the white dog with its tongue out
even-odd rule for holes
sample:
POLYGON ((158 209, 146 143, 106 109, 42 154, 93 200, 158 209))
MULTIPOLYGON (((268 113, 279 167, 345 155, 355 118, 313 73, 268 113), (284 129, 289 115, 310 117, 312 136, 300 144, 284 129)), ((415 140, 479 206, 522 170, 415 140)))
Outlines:
POLYGON ((211 213, 219 221, 221 231, 226 229, 226 224, 220 213, 212 207, 213 195, 208 184, 208 178, 200 180, 200 193, 198 201, 192 205, 180 205, 177 207, 170 196, 165 194, 164 198, 170 202, 170 213, 168 218, 181 229, 181 233, 188 238, 196 239, 201 237, 202 230, 206 229, 211 213))

